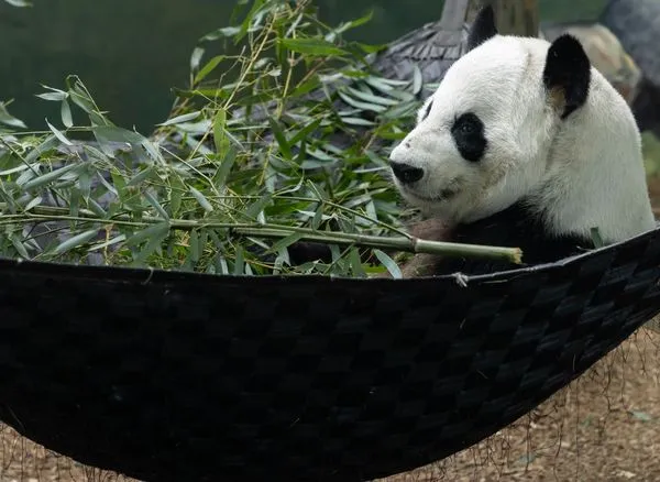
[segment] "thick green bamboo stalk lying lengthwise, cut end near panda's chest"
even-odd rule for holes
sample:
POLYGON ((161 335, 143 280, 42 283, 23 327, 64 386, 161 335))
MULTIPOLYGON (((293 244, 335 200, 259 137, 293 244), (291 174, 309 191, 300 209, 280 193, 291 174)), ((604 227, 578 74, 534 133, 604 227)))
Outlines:
MULTIPOLYGON (((0 202, 0 210, 8 209, 6 202, 0 202)), ((193 229, 227 229, 230 232, 240 235, 262 237, 283 239, 292 234, 299 234, 301 241, 314 241, 324 244, 338 245, 358 245, 364 248, 381 248, 405 251, 410 253, 439 254, 443 256, 465 256, 465 258, 485 258, 492 260, 504 260, 515 264, 522 262, 522 251, 519 248, 487 247, 480 244, 463 244, 444 241, 431 241, 408 237, 377 237, 367 234, 355 234, 348 232, 328 232, 310 228, 300 228, 295 226, 283 226, 273 223, 235 223, 235 222, 216 222, 197 221, 189 219, 164 219, 158 217, 143 216, 140 221, 131 220, 127 215, 117 216, 111 219, 99 218, 92 211, 81 209, 78 216, 70 216, 67 208, 54 206, 34 206, 29 211, 15 215, 0 215, 0 223, 7 220, 9 222, 30 222, 30 221, 78 221, 92 222, 99 224, 123 224, 132 227, 148 227, 161 222, 167 222, 169 229, 193 230, 193 229)))

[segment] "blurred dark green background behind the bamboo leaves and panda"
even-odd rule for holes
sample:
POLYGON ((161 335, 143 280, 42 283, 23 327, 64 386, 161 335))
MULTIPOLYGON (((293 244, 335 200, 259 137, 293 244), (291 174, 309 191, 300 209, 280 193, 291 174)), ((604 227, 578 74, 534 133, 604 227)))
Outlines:
MULTIPOLYGON (((606 0, 540 0, 541 19, 594 19, 606 0)), ((34 0, 19 9, 0 1, 0 100, 31 128, 56 119, 58 106, 34 97, 40 84, 63 86, 77 74, 111 119, 148 134, 167 116, 172 87, 185 87, 197 40, 226 26, 234 0, 34 0)), ((373 20, 352 32, 386 43, 440 18, 443 1, 317 0, 331 24, 373 20)))

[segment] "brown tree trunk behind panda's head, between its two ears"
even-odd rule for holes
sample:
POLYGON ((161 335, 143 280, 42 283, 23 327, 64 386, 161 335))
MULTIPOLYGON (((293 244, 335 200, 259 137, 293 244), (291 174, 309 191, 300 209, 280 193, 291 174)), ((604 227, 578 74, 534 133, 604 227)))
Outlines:
POLYGON ((522 36, 539 35, 538 0, 471 0, 468 20, 472 21, 476 12, 487 4, 492 4, 495 10, 499 33, 522 36))

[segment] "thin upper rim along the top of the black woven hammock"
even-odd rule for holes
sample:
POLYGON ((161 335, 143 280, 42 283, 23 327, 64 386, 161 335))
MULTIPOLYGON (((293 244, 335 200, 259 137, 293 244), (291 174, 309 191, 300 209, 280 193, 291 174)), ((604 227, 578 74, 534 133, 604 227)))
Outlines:
MULTIPOLYGON (((644 241, 647 238, 652 238, 660 234, 660 223, 648 231, 644 231, 635 237, 628 238, 624 241, 610 243, 601 248, 585 251, 584 253, 568 256, 559 261, 550 263, 540 263, 532 266, 517 267, 513 270, 497 271, 488 274, 479 275, 466 275, 461 272, 453 274, 443 274, 438 276, 417 276, 409 278, 392 278, 392 277, 367 277, 358 278, 350 276, 323 276, 319 274, 282 274, 282 275, 234 275, 234 274, 210 274, 200 272, 186 272, 176 270, 162 270, 152 267, 132 267, 132 266, 120 266, 120 265, 88 265, 88 264, 73 264, 73 263, 61 263, 52 261, 32 261, 12 258, 0 258, 0 273, 3 270, 25 270, 31 273, 55 273, 58 277, 90 277, 95 280, 105 280, 108 282, 131 282, 139 281, 141 284, 157 284, 157 283, 177 283, 177 282, 193 282, 206 280, 208 283, 223 283, 232 281, 234 283, 250 283, 250 284, 271 284, 271 283, 343 283, 343 284, 364 284, 369 285, 385 285, 392 283, 442 283, 452 282, 458 284, 468 285, 471 282, 474 283, 493 283, 509 281, 515 277, 529 275, 532 273, 538 274, 539 272, 550 272, 559 270, 565 266, 578 264, 583 260, 594 258, 596 255, 613 252, 626 244, 644 241)), ((522 253, 522 260, 525 260, 525 253, 522 253)))

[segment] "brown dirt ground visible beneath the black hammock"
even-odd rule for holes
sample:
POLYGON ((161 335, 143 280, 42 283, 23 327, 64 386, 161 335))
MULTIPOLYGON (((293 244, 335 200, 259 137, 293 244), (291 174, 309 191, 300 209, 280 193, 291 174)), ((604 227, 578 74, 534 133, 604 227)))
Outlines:
MULTIPOLYGON (((660 331, 639 329, 512 426, 442 462, 378 482, 660 481, 660 331)), ((135 482, 0 426, 1 482, 135 482)))

